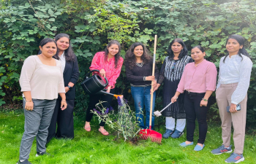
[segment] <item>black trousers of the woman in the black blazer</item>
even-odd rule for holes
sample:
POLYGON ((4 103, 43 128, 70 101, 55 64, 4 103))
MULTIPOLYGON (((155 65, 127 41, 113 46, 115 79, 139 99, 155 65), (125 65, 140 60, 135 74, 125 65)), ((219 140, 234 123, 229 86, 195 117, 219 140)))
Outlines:
POLYGON ((53 138, 74 138, 73 109, 75 100, 66 100, 67 109, 61 110, 61 100, 57 99, 53 117, 48 128, 47 143, 53 138), (56 132, 56 124, 58 125, 56 132))

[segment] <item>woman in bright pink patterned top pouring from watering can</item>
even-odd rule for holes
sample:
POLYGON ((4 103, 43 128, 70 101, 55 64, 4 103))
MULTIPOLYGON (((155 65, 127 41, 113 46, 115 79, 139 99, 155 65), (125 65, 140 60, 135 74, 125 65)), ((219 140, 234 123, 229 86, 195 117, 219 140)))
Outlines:
MULTIPOLYGON (((91 61, 90 70, 98 69, 99 74, 102 77, 107 77, 108 87, 106 87, 108 93, 115 92, 116 79, 119 77, 121 72, 121 66, 123 65, 124 59, 120 56, 121 45, 116 40, 111 40, 104 52, 97 52, 91 61)), ((92 109, 95 109, 95 105, 100 101, 105 101, 102 106, 108 108, 111 104, 113 95, 90 95, 89 106, 86 111, 86 125, 84 129, 91 131, 90 121, 93 117, 91 113, 92 109)), ((107 136, 108 131, 104 129, 105 122, 99 123, 99 132, 107 136)))

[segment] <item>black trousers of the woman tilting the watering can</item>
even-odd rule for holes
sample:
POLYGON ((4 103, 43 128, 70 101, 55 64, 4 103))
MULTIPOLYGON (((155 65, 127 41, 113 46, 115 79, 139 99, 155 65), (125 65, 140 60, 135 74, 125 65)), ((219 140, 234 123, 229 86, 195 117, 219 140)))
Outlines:
MULTIPOLYGON (((115 93, 115 88, 110 90, 110 93, 115 93)), ((111 105, 111 101, 113 99, 113 95, 107 95, 107 94, 102 94, 102 95, 90 95, 89 98, 89 106, 86 110, 86 121, 91 122, 91 118, 93 117, 93 113, 91 113, 91 110, 95 109, 95 105, 99 103, 99 101, 106 101, 102 103, 102 106, 105 108, 108 108, 111 105)), ((100 106, 101 107, 101 106, 100 106)), ((97 109, 99 110, 99 109, 97 109)), ((99 123, 99 126, 104 126, 105 122, 102 121, 99 123)))

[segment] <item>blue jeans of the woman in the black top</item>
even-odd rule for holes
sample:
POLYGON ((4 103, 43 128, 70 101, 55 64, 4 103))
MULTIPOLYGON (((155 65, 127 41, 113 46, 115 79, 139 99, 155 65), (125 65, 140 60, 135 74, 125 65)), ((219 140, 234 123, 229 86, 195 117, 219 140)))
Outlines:
MULTIPOLYGON (((136 118, 140 125, 140 128, 149 128, 149 115, 150 115, 150 90, 151 86, 148 87, 131 87, 132 97, 135 101, 136 118), (144 125, 143 108, 145 105, 146 111, 146 125, 144 125)), ((153 108, 152 108, 152 122, 151 129, 154 128, 154 101, 156 99, 156 92, 153 94, 153 108)))

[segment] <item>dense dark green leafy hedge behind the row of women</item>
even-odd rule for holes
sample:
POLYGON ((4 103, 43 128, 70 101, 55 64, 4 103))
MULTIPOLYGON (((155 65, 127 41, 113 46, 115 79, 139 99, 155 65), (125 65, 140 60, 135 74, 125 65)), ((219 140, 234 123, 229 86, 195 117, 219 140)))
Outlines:
MULTIPOLYGON (((39 41, 58 33, 71 36, 78 56, 80 79, 89 71, 95 52, 103 50, 110 39, 121 42, 121 55, 133 42, 143 42, 153 52, 154 34, 157 41, 157 66, 167 55, 170 41, 184 39, 189 50, 201 44, 207 60, 219 66, 225 55, 225 42, 230 34, 247 40, 246 50, 256 59, 256 2, 197 0, 66 0, 66 1, 2 1, 0 6, 0 106, 20 103, 18 84, 23 60, 37 54, 39 41), (30 4, 31 2, 31 4, 30 4)), ((255 64, 249 87, 247 118, 256 119, 255 64)), ((76 114, 84 115, 88 95, 77 85, 76 114)), ((129 82, 124 67, 116 88, 132 105, 129 82)), ((157 91, 156 110, 162 108, 162 90, 157 91)), ((215 99, 213 98, 213 104, 215 99)), ((211 106, 209 120, 219 120, 217 105, 211 106)))

